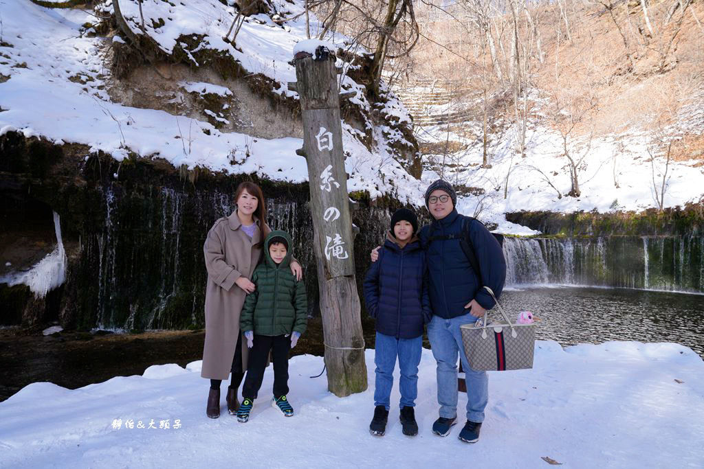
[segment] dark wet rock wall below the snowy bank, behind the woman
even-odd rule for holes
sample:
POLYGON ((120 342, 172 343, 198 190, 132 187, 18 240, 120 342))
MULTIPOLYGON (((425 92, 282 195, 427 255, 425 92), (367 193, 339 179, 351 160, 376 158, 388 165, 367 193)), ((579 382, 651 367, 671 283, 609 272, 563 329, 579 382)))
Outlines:
MULTIPOLYGON (((5 257, 21 255, 25 248, 8 238, 31 240, 27 231, 32 232, 37 221, 44 221, 42 229, 49 231, 51 210, 61 214, 57 234, 63 241, 58 245, 62 248, 54 248, 54 233, 51 237, 47 233, 42 243, 51 254, 40 263, 46 268, 13 262, 11 269, 27 270, 21 275, 37 281, 26 282, 29 286, 0 285, 4 307, 0 325, 59 321, 65 328, 81 329, 203 327, 203 242, 213 222, 232 212, 234 189, 248 175, 189 172, 163 160, 134 156, 118 162, 103 153, 84 160, 86 146, 63 146, 51 153, 56 145, 27 141, 16 132, 1 136, 0 148, 0 193, 8 202, 0 210, 6 228, 0 236, 3 264, 5 257), (39 166, 49 153, 51 157, 39 166), (32 175, 32 167, 41 171, 32 175), (50 290, 62 282, 58 275, 39 278, 33 272, 59 274, 49 266, 61 259, 65 259, 63 285, 46 297, 35 297, 42 285, 50 290)), ((308 184, 254 180, 266 195, 272 229, 284 229, 294 239, 294 253, 306 273, 310 313, 318 314, 308 184)), ((361 200, 352 217, 360 227, 354 252, 361 284, 369 250, 388 229, 389 212, 361 200)))

